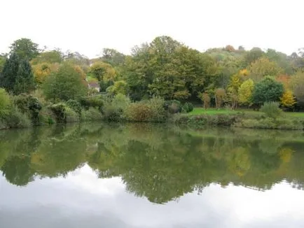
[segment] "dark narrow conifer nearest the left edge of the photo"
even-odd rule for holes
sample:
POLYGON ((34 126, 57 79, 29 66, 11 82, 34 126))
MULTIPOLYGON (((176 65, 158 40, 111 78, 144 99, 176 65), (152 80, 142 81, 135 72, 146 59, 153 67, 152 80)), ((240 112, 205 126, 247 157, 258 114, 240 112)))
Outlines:
POLYGON ((12 53, 4 64, 0 78, 0 87, 4 87, 8 92, 13 92, 18 78, 19 65, 20 59, 15 53, 12 53))

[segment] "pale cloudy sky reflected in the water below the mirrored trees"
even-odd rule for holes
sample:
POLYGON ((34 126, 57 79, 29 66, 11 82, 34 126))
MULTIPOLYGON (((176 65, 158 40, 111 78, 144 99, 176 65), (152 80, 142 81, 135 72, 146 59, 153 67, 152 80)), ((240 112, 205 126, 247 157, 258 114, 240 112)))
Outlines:
POLYGON ((119 177, 98 178, 90 166, 25 187, 0 172, 0 221, 6 228, 303 227, 304 192, 277 183, 264 192, 211 184, 167 204, 126 192, 119 177), (284 196, 284 197, 282 197, 284 196))

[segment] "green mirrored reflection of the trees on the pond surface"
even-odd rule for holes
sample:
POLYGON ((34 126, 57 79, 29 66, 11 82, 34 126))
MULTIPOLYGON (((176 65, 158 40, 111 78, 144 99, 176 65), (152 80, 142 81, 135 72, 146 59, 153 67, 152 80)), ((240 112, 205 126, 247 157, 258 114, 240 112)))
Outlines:
POLYGON ((84 124, 0 133, 0 168, 14 185, 65 176, 89 164, 120 176, 136 196, 164 204, 211 183, 303 188, 302 132, 171 129, 159 124, 84 124), (292 134, 292 136, 290 136, 292 134))

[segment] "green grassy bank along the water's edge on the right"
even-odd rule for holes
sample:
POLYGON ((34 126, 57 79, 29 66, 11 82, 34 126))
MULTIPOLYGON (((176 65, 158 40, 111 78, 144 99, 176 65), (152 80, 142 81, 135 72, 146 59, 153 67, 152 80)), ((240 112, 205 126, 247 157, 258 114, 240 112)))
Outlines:
POLYGON ((280 112, 272 115, 271 111, 228 110, 194 108, 192 112, 174 115, 174 124, 188 124, 198 128, 207 125, 228 126, 256 129, 304 129, 304 113, 280 112))

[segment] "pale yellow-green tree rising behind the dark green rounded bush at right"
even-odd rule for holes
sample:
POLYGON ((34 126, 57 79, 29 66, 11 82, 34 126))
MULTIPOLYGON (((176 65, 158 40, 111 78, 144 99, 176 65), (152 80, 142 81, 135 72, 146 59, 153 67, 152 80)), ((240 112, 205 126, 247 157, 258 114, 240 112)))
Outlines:
POLYGON ((278 76, 282 73, 282 69, 276 62, 270 61, 266 57, 257 59, 249 66, 250 78, 255 81, 263 79, 264 76, 278 76))

